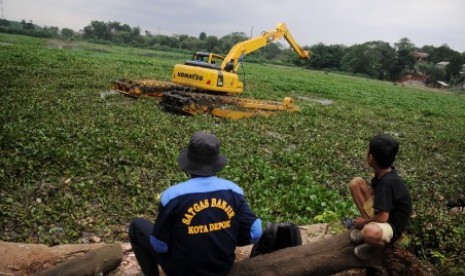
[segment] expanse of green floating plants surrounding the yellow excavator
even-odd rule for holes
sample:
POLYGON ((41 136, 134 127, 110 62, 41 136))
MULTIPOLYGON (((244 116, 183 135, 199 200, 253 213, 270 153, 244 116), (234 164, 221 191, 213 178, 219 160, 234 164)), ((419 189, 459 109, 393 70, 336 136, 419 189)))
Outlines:
POLYGON ((246 61, 244 96, 292 96, 301 112, 188 117, 102 94, 120 78, 169 81, 188 55, 52 42, 0 34, 1 240, 127 241, 130 220, 153 220, 160 192, 185 179, 176 157, 197 130, 219 136, 229 160, 220 176, 264 220, 355 216, 346 183, 371 177, 367 141, 385 132, 401 143, 396 166, 414 200, 406 247, 446 274, 464 272, 464 216, 443 201, 464 194, 463 94, 246 61))

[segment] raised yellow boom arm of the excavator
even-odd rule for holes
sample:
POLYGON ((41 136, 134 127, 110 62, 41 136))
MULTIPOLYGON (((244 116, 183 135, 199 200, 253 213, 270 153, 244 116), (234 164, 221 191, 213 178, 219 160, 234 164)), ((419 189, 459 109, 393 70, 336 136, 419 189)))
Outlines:
POLYGON ((310 58, 310 53, 300 47, 299 44, 294 40, 291 33, 287 29, 285 23, 279 23, 276 26, 276 29, 270 32, 263 32, 260 36, 242 41, 234 45, 229 51, 228 55, 225 57, 223 63, 221 64, 221 69, 227 72, 237 72, 239 69, 239 61, 247 54, 250 54, 267 44, 276 41, 284 37, 287 42, 291 45, 294 51, 301 58, 308 59, 310 58))

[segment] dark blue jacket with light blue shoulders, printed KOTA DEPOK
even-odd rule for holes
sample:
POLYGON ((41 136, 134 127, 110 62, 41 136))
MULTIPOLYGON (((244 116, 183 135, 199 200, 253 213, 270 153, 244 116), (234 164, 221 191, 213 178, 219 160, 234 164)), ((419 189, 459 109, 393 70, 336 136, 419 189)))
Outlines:
POLYGON ((261 222, 235 183, 196 177, 163 193, 152 235, 168 245, 168 274, 222 275, 236 245, 260 237, 261 222))

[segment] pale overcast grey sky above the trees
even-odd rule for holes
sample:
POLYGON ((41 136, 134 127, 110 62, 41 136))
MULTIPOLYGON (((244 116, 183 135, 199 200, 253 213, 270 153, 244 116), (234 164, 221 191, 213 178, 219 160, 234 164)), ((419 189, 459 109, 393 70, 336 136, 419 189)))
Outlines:
MULTIPOLYGON (((280 22, 301 46, 351 46, 407 37, 417 47, 465 52, 465 0, 0 0, 3 19, 75 31, 92 20, 142 33, 258 36, 280 22)), ((287 43, 282 42, 283 45, 287 43)))

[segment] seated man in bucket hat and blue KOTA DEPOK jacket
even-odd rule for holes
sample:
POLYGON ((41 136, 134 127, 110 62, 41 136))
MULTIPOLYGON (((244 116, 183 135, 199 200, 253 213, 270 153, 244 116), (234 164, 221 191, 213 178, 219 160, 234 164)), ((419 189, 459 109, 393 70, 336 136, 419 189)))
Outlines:
POLYGON ((145 275, 226 275, 236 246, 256 243, 261 220, 250 209, 243 190, 216 174, 227 160, 214 134, 194 133, 178 156, 189 180, 166 189, 155 225, 137 218, 129 237, 145 275))

